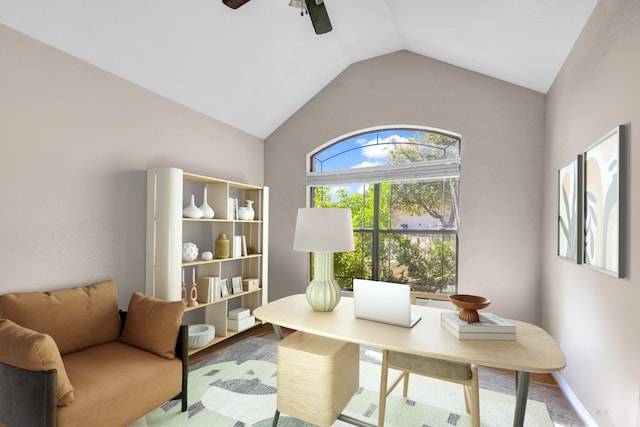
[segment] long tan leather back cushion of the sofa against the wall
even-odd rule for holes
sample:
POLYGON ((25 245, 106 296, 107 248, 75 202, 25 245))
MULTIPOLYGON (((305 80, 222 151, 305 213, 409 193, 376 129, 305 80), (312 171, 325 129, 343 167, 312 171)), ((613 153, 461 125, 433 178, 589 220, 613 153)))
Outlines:
POLYGON ((0 317, 51 335, 65 355, 120 335, 114 280, 50 292, 0 295, 0 317))

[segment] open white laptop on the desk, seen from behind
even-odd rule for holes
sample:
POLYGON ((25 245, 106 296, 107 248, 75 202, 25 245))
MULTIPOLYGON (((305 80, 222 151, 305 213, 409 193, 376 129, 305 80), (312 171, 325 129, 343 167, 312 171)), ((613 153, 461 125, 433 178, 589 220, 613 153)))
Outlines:
POLYGON ((411 313, 411 288, 400 283, 354 279, 353 307, 359 319, 407 328, 421 319, 411 313))

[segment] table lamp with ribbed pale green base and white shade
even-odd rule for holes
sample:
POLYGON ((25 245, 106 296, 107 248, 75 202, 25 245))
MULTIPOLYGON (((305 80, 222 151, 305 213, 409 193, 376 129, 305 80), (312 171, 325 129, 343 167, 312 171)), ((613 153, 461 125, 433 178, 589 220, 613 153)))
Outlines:
POLYGON ((351 210, 300 208, 293 250, 313 252, 313 280, 307 302, 315 311, 331 311, 340 302, 340 286, 333 277, 333 253, 354 250, 351 210))

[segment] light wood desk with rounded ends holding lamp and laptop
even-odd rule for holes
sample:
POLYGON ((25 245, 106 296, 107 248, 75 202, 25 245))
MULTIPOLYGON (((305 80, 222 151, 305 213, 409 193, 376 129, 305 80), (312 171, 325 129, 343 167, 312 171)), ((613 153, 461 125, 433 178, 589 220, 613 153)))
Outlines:
POLYGON ((550 373, 566 365, 558 344, 538 326, 510 320, 516 325, 515 341, 458 340, 440 325, 442 309, 412 306, 412 310, 422 320, 413 328, 403 328, 356 319, 352 298, 343 297, 333 311, 318 312, 300 294, 259 307, 254 315, 275 326, 336 340, 516 371, 514 426, 524 422, 530 373, 550 373))

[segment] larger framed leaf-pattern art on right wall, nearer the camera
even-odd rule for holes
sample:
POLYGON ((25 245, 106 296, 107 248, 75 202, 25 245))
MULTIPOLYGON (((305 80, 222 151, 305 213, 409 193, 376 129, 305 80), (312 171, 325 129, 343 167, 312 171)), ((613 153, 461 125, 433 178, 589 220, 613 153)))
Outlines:
POLYGON ((624 126, 608 132, 583 154, 583 264, 622 277, 621 195, 624 126))

